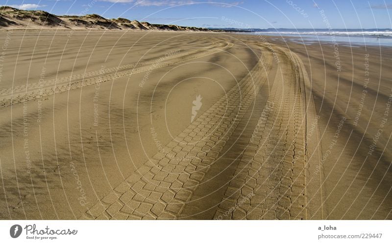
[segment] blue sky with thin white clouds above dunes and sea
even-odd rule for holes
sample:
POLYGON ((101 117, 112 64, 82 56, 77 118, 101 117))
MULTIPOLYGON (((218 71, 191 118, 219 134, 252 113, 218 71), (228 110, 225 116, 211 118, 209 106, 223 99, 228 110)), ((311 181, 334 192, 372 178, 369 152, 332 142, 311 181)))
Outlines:
POLYGON ((392 27, 388 0, 0 0, 0 5, 197 27, 392 27))

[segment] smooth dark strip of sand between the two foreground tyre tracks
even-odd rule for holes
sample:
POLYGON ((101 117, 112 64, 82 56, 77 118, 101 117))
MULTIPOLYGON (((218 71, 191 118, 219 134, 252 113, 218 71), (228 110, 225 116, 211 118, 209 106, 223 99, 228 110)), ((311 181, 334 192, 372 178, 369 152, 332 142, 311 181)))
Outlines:
MULTIPOLYGON (((268 48, 264 46, 262 48, 265 52, 270 52, 268 48)), ((265 67, 264 72, 266 82, 252 101, 251 109, 245 112, 243 119, 224 145, 220 157, 197 187, 192 200, 186 204, 181 218, 192 220, 214 218, 216 208, 226 191, 227 183, 232 179, 245 147, 249 144, 249 138, 252 138, 258 118, 263 114, 264 105, 267 103, 277 69, 276 60, 273 60, 272 56, 270 59, 272 66, 265 67)))

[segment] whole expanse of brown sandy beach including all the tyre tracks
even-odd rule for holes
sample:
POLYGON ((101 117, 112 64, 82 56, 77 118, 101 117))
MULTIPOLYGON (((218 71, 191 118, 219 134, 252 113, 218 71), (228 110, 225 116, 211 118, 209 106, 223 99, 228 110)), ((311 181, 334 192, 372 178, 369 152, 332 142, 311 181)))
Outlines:
POLYGON ((392 219, 391 48, 3 33, 0 219, 392 219))

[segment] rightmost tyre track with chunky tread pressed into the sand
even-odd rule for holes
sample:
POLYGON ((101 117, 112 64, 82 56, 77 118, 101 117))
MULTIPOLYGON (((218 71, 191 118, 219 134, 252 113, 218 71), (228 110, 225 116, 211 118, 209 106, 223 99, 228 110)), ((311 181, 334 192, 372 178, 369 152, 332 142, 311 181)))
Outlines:
POLYGON ((305 104, 296 62, 276 48, 278 74, 214 219, 306 219, 305 104))

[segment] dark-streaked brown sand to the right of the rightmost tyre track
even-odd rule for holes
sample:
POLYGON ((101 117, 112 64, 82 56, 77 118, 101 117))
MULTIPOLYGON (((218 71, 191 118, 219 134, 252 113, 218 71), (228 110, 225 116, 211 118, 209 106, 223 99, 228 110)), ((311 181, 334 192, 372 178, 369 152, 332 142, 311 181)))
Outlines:
POLYGON ((391 219, 392 49, 339 45, 338 71, 332 44, 289 45, 306 65, 320 116, 324 216, 391 219))

